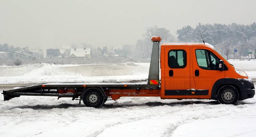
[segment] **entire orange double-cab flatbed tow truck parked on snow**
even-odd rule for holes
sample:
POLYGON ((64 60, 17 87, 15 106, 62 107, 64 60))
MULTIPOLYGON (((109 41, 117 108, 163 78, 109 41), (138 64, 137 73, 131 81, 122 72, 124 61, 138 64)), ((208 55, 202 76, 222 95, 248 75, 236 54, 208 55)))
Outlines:
POLYGON ((120 97, 160 97, 161 99, 214 99, 236 104, 253 98, 255 89, 247 74, 231 65, 212 45, 204 43, 153 42, 148 80, 120 83, 43 83, 3 91, 4 101, 20 96, 56 96, 81 100, 85 106, 101 107, 120 97), (161 64, 161 81, 159 79, 161 64))

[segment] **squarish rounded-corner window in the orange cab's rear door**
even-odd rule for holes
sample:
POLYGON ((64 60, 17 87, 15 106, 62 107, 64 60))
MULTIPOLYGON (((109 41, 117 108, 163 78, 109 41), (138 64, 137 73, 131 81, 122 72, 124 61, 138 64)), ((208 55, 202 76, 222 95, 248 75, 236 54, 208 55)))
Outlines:
POLYGON ((187 65, 186 51, 170 50, 168 53, 168 65, 170 68, 185 68, 187 65))

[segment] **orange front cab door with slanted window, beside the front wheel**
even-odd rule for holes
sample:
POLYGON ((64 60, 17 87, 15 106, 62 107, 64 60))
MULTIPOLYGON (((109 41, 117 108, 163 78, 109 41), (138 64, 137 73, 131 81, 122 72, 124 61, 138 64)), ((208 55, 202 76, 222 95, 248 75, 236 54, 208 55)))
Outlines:
POLYGON ((218 69, 220 57, 209 48, 192 47, 192 62, 196 94, 202 98, 211 98, 214 83, 225 78, 225 71, 218 69))

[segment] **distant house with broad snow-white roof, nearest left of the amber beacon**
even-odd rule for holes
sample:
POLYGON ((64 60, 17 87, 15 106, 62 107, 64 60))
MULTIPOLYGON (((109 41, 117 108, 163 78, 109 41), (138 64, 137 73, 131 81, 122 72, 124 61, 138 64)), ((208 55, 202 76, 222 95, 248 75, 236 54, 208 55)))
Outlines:
POLYGON ((69 58, 91 58, 91 48, 74 48, 70 50, 69 58))

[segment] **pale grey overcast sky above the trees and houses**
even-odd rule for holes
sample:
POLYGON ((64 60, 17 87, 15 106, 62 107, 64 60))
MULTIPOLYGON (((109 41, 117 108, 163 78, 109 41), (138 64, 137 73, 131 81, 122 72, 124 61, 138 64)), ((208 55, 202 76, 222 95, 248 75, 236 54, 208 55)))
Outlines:
POLYGON ((146 27, 251 24, 255 0, 0 0, 0 43, 50 48, 135 44, 146 27))

